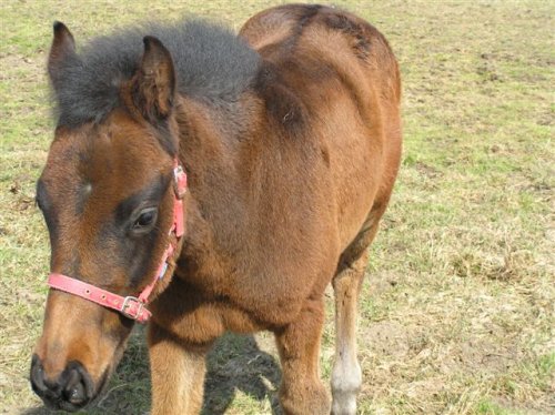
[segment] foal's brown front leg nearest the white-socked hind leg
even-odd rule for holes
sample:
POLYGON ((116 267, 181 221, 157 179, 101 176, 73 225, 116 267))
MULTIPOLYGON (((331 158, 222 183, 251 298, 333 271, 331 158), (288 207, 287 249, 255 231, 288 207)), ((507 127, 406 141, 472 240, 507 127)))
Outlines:
POLYGON ((275 332, 282 364, 280 402, 286 415, 329 415, 330 396, 320 379, 323 300, 309 300, 294 322, 275 332))

